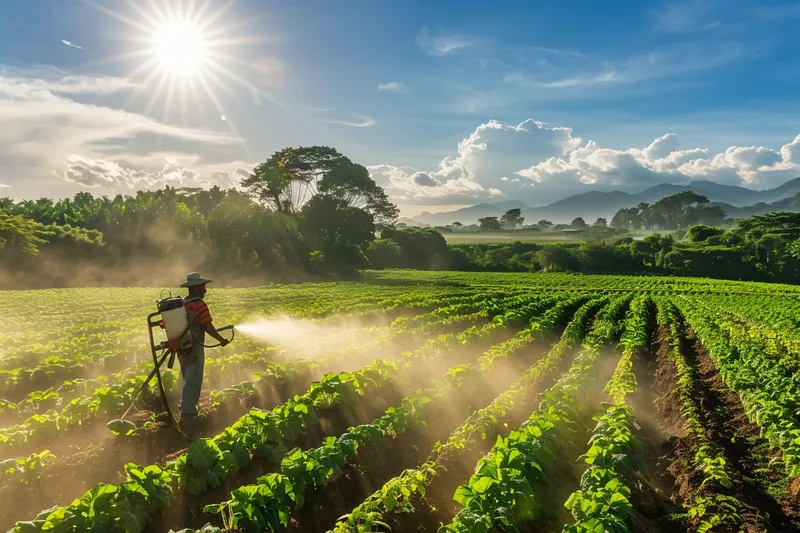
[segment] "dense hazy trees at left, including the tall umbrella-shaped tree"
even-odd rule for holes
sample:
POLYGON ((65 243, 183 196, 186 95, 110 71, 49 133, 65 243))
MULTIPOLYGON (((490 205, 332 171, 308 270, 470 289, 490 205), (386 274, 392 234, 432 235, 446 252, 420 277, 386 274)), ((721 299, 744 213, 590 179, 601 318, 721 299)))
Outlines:
POLYGON ((275 152, 241 190, 0 198, 0 285, 94 284, 88 272, 108 271, 129 284, 199 269, 228 279, 348 274, 371 265, 370 243, 397 214, 364 166, 327 146, 275 152))

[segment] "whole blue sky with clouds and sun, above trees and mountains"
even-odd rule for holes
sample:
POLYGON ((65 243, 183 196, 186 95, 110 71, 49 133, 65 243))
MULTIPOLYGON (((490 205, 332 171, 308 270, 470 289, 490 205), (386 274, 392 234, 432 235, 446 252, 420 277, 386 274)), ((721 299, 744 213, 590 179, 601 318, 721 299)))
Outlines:
POLYGON ((773 187, 800 175, 798 22, 788 1, 3 2, 0 194, 235 186, 310 144, 404 214, 773 187), (177 27, 206 50, 180 75, 195 52, 157 44, 177 27))

